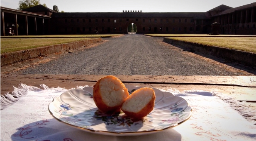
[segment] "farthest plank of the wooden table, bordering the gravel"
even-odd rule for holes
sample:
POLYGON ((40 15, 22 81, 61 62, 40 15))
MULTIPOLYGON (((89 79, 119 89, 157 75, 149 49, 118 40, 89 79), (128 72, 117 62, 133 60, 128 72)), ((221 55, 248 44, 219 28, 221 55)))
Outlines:
MULTIPOLYGON (((13 75, 20 78, 45 78, 75 81, 97 81, 105 75, 13 75)), ((194 85, 230 85, 256 87, 256 76, 151 76, 151 75, 115 75, 122 82, 161 83, 161 84, 194 84, 194 85)))

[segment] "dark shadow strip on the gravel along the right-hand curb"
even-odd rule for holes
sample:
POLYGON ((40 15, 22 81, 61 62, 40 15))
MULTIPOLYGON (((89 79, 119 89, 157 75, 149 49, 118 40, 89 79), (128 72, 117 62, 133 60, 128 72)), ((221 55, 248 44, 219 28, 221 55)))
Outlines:
MULTIPOLYGON (((162 42, 164 42, 164 41, 162 41, 162 42)), ((172 45, 172 44, 170 44, 170 45, 172 45)), ((200 55, 202 57, 206 57, 206 58, 215 60, 219 63, 223 63, 225 65, 232 66, 234 68, 237 68, 237 69, 240 69, 240 70, 243 70, 248 73, 252 73, 252 74, 256 75, 256 67, 246 66, 245 64, 243 64, 241 62, 237 62, 237 61, 234 61, 231 59, 221 58, 218 56, 213 56, 211 54, 207 54, 207 53, 203 53, 203 52, 198 52, 198 51, 195 51, 194 49, 189 49, 187 47, 183 47, 183 46, 179 46, 179 45, 173 45, 173 46, 183 49, 183 51, 185 51, 185 52, 192 52, 192 53, 200 55)))

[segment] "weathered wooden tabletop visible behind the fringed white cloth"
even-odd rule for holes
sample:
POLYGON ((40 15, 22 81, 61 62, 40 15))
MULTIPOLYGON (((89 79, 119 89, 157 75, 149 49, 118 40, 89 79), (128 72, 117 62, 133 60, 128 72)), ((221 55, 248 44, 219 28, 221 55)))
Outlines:
MULTIPOLYGON (((19 75, 1 76, 1 95, 12 92, 13 86, 21 83, 40 87, 93 86, 105 75, 19 75)), ((246 101, 246 105, 256 110, 256 76, 152 76, 152 75, 116 75, 125 85, 154 87, 160 89, 205 90, 230 95, 238 101, 246 101)))

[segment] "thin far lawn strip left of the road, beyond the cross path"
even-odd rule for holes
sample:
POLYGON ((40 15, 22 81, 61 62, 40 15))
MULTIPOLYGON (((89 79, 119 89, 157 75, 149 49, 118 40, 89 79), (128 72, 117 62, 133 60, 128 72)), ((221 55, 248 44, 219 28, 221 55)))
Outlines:
POLYGON ((102 35, 18 35, 18 36, 1 36, 1 38, 96 38, 96 37, 115 37, 123 34, 102 34, 102 35))

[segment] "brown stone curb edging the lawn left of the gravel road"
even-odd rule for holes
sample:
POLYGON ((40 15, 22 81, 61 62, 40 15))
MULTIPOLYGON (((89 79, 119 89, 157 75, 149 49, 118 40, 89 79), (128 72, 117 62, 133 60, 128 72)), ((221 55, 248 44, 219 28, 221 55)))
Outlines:
POLYGON ((56 52, 68 52, 71 49, 76 49, 84 45, 91 45, 95 42, 102 42, 102 38, 93 38, 88 40, 81 40, 76 42, 69 42, 65 44, 49 45, 45 47, 37 47, 33 49, 26 49, 17 52, 1 54, 1 66, 10 65, 12 63, 45 56, 56 52))

